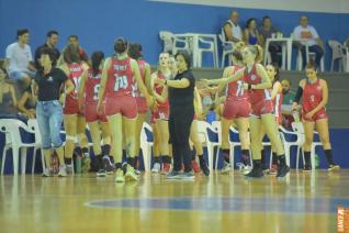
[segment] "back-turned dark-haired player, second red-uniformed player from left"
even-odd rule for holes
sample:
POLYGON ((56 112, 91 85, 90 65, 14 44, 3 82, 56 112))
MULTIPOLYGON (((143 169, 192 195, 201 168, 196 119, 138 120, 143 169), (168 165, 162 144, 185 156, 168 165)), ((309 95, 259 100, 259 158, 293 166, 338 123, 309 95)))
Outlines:
MULTIPOLYGON (((109 156, 111 144, 111 130, 104 112, 97 112, 98 92, 102 77, 102 68, 104 64, 103 52, 94 52, 91 56, 92 66, 86 70, 81 77, 79 87, 80 109, 85 110, 86 121, 89 125, 91 138, 93 143, 93 153, 97 162, 97 176, 103 177, 106 173, 113 173, 113 167, 102 160, 102 156, 109 156), (101 137, 102 131, 102 137, 101 137), (103 146, 101 140, 103 138, 103 146)), ((105 158, 104 158, 105 160, 105 158)), ((85 158, 83 165, 89 166, 89 158, 85 158)), ((87 169, 87 168, 86 168, 87 169)))

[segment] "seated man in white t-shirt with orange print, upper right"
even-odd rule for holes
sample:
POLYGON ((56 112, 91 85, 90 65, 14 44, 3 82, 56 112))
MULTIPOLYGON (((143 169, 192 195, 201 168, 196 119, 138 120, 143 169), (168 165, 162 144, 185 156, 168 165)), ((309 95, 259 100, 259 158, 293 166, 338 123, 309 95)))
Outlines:
POLYGON ((294 40, 299 41, 302 45, 302 57, 303 57, 303 67, 306 64, 306 54, 305 46, 308 46, 311 53, 315 53, 315 64, 316 67, 319 67, 320 59, 324 55, 324 43, 319 38, 314 26, 308 25, 308 18, 302 15, 300 18, 300 24, 293 30, 294 40))

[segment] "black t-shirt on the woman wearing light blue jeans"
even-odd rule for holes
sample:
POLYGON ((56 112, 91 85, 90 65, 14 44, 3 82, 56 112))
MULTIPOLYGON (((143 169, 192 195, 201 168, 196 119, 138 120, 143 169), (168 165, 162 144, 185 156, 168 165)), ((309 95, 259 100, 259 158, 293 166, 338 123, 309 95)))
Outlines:
POLYGON ((58 100, 60 87, 67 78, 67 75, 59 68, 53 68, 47 75, 44 75, 42 71, 36 73, 35 82, 38 86, 37 100, 58 100))

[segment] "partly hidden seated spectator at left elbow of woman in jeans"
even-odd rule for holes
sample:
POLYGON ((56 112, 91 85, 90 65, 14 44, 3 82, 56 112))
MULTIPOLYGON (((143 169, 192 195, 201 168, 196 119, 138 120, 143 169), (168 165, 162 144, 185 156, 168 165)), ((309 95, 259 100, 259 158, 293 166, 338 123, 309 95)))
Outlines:
POLYGON ((33 84, 32 87, 24 90, 20 101, 19 101, 19 110, 24 113, 29 119, 35 119, 35 108, 37 96, 33 91, 33 84))

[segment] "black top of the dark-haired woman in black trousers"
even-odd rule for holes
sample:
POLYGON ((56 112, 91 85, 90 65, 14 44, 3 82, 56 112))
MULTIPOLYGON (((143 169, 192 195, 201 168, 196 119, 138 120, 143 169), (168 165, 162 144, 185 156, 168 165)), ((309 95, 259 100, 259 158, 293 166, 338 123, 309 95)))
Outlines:
POLYGON ((192 107, 194 108, 194 87, 195 87, 195 78, 191 70, 185 70, 181 74, 177 74, 173 80, 181 80, 182 78, 187 78, 190 81, 188 88, 171 88, 169 87, 169 102, 170 108, 183 108, 183 107, 192 107))

